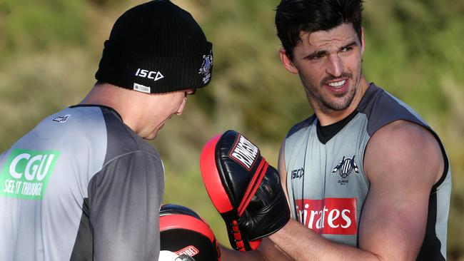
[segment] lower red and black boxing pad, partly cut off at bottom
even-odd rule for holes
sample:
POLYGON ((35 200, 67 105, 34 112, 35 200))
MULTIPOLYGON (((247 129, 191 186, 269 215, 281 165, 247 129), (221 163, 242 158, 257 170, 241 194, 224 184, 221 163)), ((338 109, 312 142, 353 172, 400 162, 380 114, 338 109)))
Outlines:
POLYGON ((213 231, 193 210, 181 205, 161 205, 159 228, 160 250, 189 255, 196 261, 221 261, 213 231))

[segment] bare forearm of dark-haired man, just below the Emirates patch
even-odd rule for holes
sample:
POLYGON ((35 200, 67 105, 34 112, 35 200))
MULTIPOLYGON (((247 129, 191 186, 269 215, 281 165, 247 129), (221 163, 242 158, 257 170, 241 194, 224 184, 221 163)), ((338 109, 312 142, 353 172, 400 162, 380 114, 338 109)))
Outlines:
POLYGON ((278 232, 269 236, 283 252, 294 260, 380 260, 371 252, 348 245, 341 245, 290 220, 278 232))

